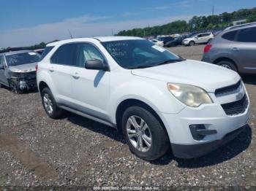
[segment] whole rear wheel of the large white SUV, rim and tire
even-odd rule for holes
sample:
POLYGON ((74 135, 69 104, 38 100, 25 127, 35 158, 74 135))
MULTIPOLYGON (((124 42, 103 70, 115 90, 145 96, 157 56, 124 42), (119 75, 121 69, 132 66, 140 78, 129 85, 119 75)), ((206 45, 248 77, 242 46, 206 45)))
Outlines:
POLYGON ((63 110, 60 109, 48 87, 45 87, 41 93, 42 96, 42 106, 45 109, 45 112, 50 118, 58 119, 63 114, 63 110))

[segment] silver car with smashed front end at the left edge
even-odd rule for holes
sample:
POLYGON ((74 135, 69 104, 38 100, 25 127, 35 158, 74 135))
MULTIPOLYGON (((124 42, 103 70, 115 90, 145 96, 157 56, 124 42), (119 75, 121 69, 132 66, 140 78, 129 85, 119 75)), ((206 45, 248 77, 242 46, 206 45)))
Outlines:
POLYGON ((13 93, 21 93, 37 87, 36 65, 40 55, 31 50, 0 54, 0 87, 10 87, 13 93))

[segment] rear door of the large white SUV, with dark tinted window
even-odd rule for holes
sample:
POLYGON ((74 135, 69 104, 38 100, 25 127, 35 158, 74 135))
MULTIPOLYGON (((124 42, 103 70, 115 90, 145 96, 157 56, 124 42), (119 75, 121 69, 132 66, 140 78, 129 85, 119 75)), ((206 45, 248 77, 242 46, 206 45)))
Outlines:
POLYGON ((50 58, 50 77, 56 85, 56 100, 61 106, 72 106, 72 79, 75 66, 75 44, 64 44, 50 58))

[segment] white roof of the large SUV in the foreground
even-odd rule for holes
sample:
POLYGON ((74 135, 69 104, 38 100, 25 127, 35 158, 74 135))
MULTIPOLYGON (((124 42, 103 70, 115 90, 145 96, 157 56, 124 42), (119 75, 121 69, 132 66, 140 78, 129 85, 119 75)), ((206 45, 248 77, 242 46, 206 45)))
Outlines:
POLYGON ((98 37, 91 37, 91 38, 67 39, 67 40, 61 40, 58 42, 51 42, 47 44, 47 47, 57 46, 60 44, 72 43, 72 42, 83 42, 83 41, 86 42, 91 40, 98 40, 99 42, 111 42, 111 41, 121 41, 121 40, 138 40, 138 39, 142 40, 142 38, 134 37, 134 36, 98 36, 98 37))

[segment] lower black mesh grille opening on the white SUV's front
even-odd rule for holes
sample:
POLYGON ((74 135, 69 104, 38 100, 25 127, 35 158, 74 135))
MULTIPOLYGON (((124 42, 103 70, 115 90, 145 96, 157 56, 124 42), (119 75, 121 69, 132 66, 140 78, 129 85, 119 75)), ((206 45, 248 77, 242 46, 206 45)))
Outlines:
POLYGON ((235 115, 235 114, 242 114, 245 112, 248 106, 248 99, 246 94, 244 97, 241 98, 239 101, 234 101, 228 104, 222 104, 222 108, 224 109, 227 115, 235 115))

